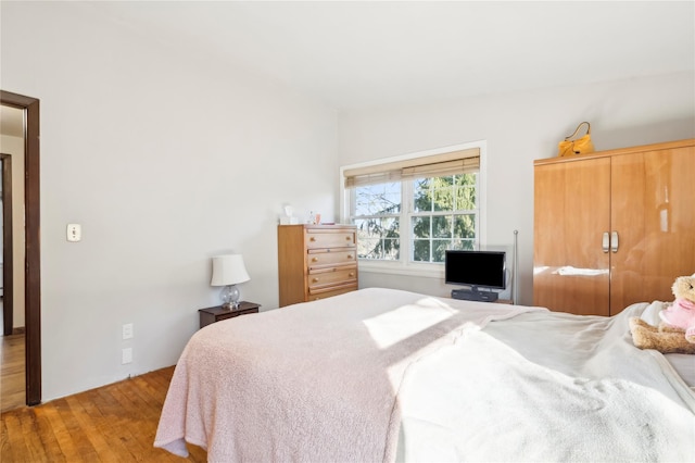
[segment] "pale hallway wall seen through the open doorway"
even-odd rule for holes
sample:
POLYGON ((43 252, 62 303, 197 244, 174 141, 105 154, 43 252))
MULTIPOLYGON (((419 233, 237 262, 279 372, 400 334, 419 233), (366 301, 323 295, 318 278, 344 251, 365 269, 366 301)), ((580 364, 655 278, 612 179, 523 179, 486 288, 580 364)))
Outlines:
POLYGON ((14 266, 12 327, 22 328, 26 320, 24 313, 24 138, 0 136, 0 152, 12 155, 12 261, 14 266))

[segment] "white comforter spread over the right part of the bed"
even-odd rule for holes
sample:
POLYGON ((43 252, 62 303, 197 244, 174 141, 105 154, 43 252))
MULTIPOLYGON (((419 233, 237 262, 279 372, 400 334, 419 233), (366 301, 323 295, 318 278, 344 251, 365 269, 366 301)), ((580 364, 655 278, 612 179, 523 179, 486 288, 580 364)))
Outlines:
POLYGON ((644 305, 466 329, 408 368, 399 460, 695 461, 693 391, 627 331, 644 305))

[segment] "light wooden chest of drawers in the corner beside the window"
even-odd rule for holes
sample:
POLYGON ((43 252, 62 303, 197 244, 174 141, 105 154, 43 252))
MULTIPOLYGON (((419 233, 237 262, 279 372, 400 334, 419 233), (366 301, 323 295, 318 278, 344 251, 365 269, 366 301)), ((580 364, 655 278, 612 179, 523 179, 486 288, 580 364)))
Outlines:
POLYGON ((280 306, 357 289, 353 225, 278 225, 280 306))

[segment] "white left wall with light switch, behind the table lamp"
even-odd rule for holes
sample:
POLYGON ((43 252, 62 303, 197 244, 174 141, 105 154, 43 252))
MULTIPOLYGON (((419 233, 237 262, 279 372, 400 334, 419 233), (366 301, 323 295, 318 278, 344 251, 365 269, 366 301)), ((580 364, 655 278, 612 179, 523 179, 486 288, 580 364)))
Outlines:
POLYGON ((277 308, 282 204, 337 208, 332 109, 87 11, 2 2, 0 87, 40 99, 45 401, 176 363, 218 303, 216 253, 242 253, 242 299, 277 308))

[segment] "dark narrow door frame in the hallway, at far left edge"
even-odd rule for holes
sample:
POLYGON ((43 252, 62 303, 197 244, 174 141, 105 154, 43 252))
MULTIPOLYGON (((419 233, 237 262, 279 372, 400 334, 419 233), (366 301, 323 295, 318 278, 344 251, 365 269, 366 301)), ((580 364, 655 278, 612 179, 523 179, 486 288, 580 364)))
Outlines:
POLYGON ((14 240, 12 224, 12 155, 2 163, 2 336, 14 334, 14 240))

